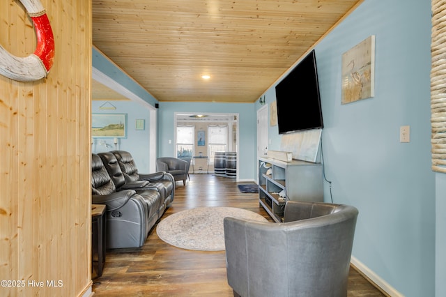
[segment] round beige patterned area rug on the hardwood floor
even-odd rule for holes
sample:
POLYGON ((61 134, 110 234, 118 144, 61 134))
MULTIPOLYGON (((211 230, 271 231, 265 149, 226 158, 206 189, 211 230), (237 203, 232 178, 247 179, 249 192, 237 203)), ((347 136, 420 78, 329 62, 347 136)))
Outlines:
POLYGON ((257 213, 235 207, 199 207, 169 215, 157 224, 162 241, 187 250, 224 250, 223 219, 268 222, 257 213))

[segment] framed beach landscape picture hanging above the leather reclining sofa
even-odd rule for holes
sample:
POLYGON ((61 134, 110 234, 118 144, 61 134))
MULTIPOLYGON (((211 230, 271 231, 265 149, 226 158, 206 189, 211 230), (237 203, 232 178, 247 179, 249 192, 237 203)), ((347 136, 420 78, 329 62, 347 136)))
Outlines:
POLYGON ((92 114, 92 137, 127 137, 127 114, 92 114))

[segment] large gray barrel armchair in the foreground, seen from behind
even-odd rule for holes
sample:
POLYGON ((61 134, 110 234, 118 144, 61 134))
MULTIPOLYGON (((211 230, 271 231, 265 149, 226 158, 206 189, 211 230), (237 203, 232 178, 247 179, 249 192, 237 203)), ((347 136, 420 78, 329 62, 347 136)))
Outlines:
POLYGON ((224 218, 234 296, 347 296, 358 211, 288 201, 283 223, 224 218))

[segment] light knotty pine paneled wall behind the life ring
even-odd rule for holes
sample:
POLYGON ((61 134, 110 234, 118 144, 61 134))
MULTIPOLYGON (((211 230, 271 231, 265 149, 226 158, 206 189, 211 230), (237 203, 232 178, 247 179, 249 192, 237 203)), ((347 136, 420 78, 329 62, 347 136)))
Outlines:
MULTIPOLYGON (((54 32, 52 70, 38 82, 0 76, 0 280, 10 280, 1 296, 91 287, 91 0, 41 3, 54 32)), ((0 44, 16 56, 35 50, 20 1, 0 1, 0 44)))

